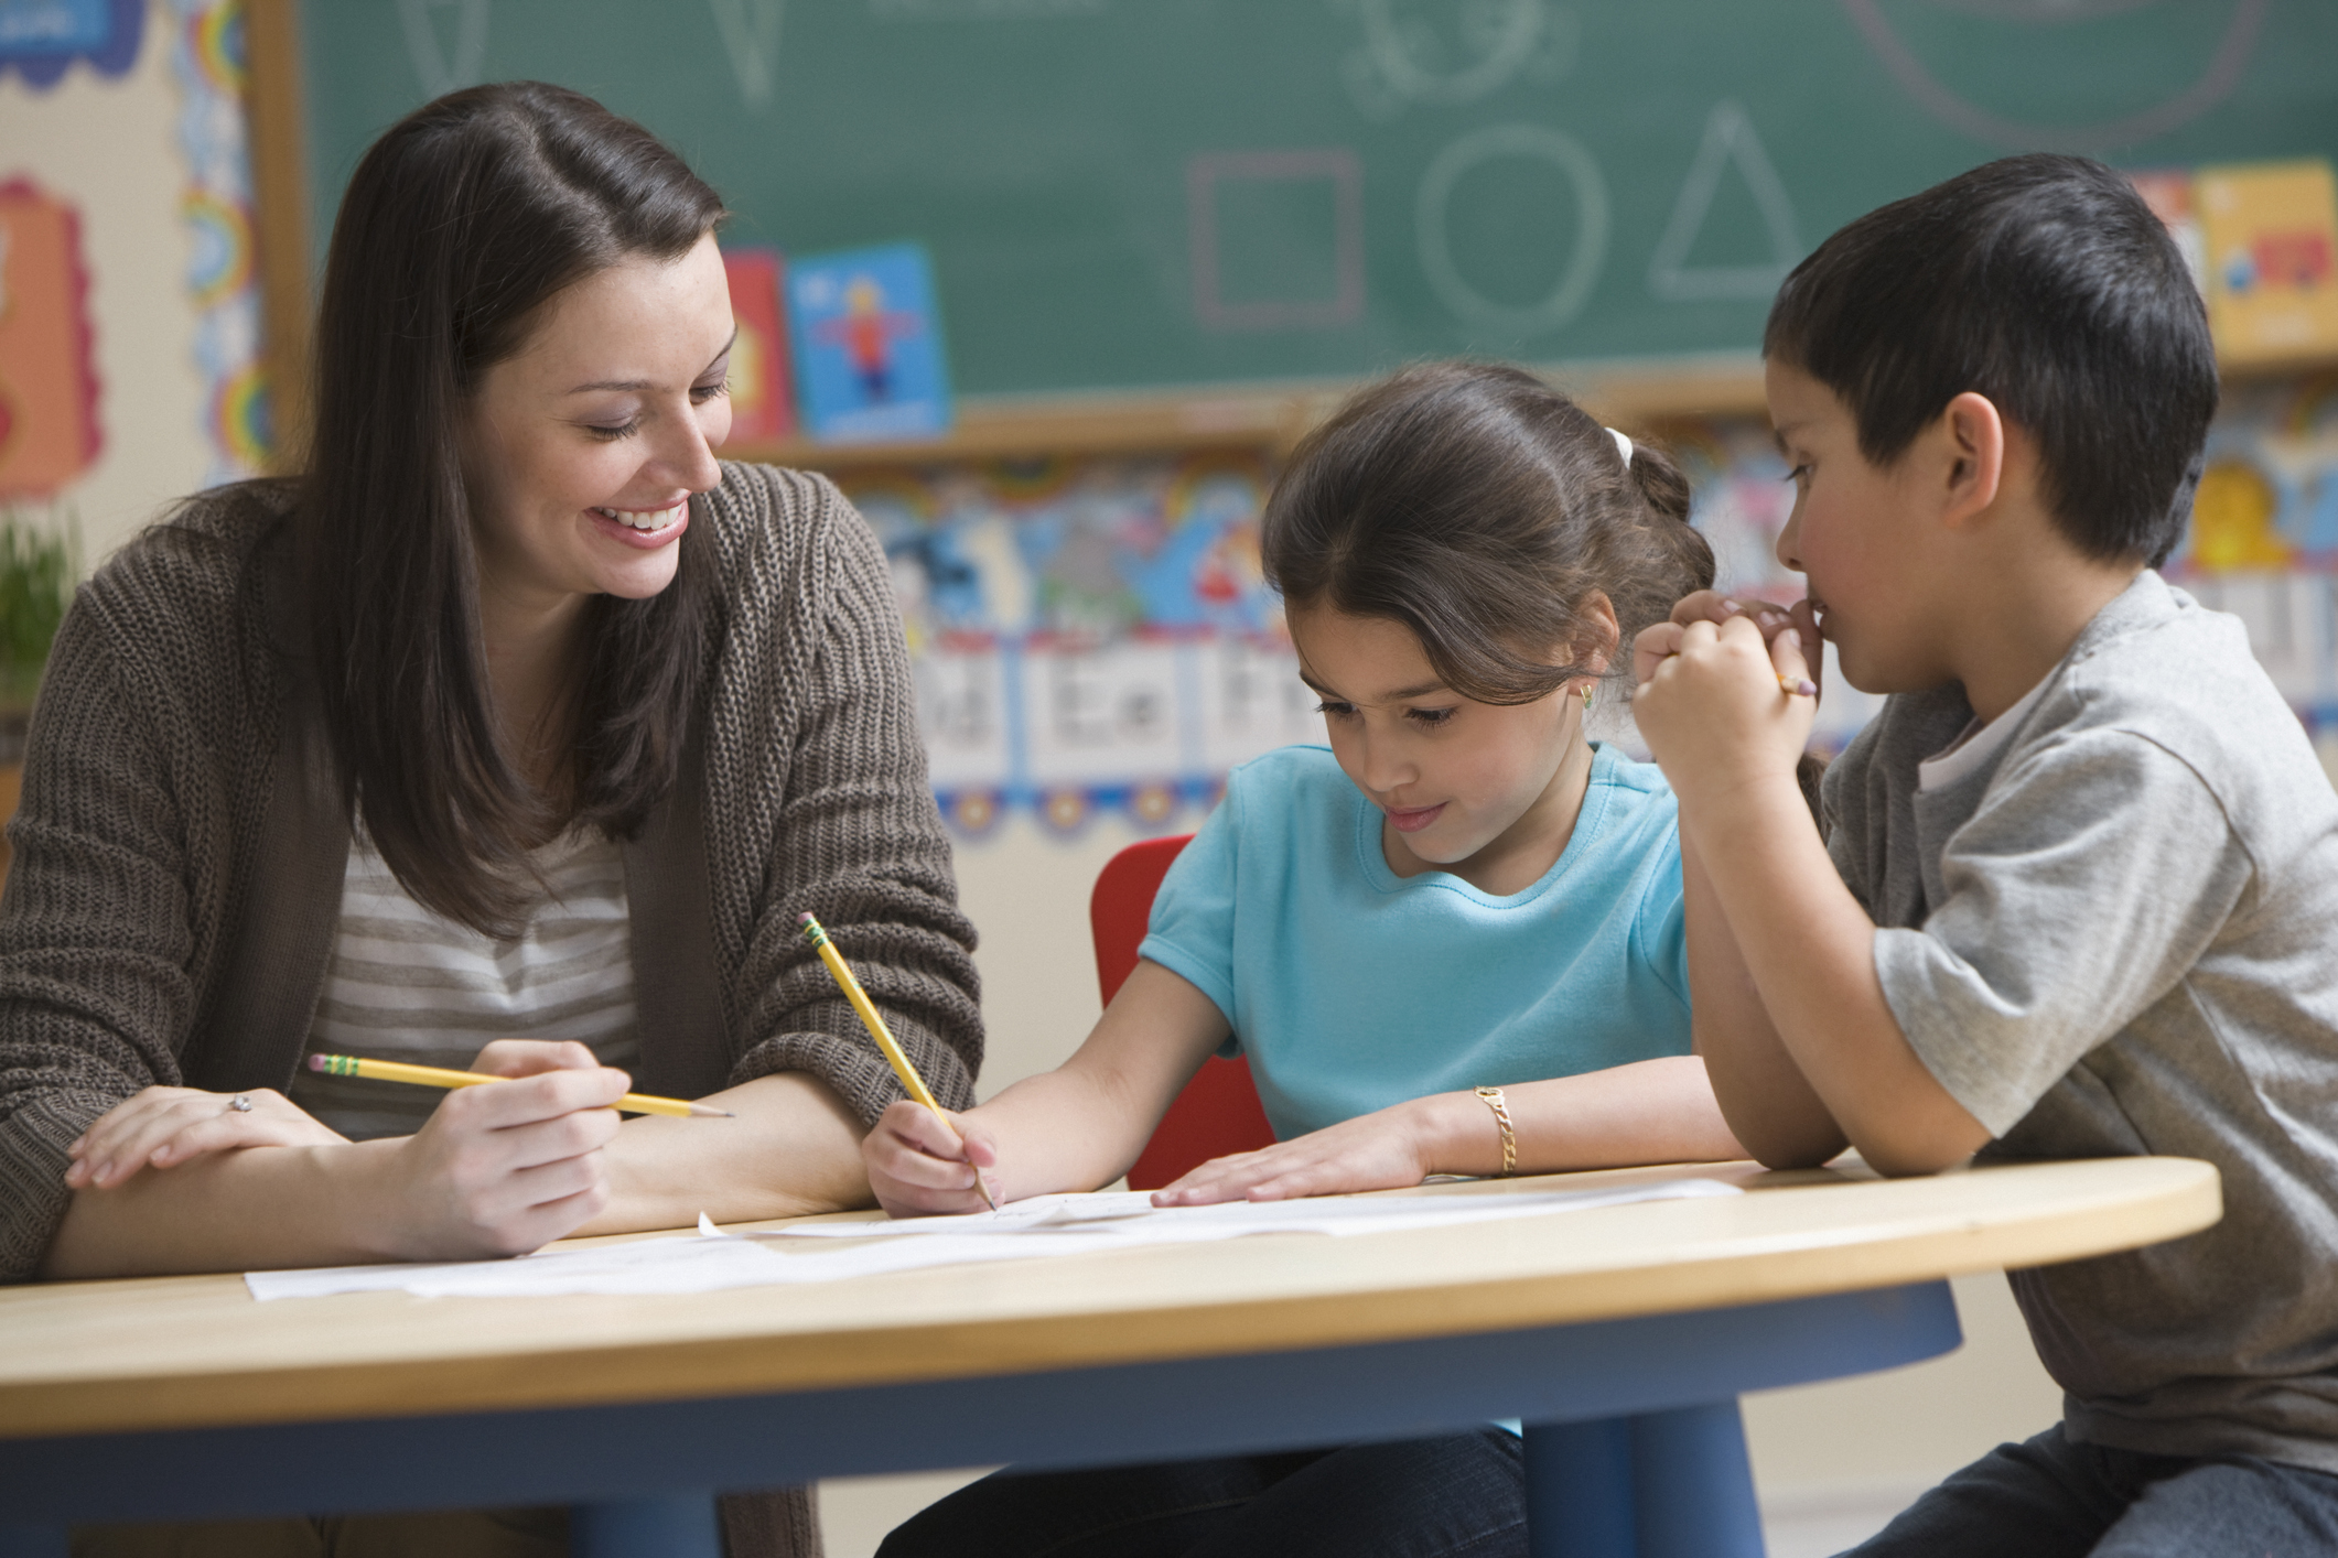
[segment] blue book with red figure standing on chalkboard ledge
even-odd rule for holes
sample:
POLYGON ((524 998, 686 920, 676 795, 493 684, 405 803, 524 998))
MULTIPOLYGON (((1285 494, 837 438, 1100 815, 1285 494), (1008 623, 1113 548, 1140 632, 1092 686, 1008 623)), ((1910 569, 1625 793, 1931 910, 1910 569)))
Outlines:
POLYGON ((916 439, 949 430, 949 371, 933 266, 914 243, 788 264, 795 388, 816 439, 916 439))

